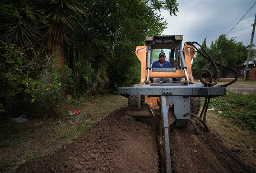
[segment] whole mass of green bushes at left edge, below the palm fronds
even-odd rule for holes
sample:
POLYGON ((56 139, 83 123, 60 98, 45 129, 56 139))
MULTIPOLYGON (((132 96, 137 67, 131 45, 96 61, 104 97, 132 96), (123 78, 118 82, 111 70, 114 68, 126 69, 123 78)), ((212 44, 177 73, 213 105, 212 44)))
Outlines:
POLYGON ((50 61, 39 57, 30 59, 26 51, 4 42, 0 52, 2 116, 43 114, 64 100, 67 84, 72 84, 72 71, 68 67, 59 69, 56 57, 50 61))

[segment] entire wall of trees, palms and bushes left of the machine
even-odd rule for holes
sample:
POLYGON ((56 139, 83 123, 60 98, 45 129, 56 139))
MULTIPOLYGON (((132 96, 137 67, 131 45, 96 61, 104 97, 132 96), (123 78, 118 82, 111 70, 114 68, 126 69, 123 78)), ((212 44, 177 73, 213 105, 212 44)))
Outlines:
POLYGON ((176 0, 3 0, 0 115, 56 114, 63 102, 139 82, 132 54, 178 12, 176 0))

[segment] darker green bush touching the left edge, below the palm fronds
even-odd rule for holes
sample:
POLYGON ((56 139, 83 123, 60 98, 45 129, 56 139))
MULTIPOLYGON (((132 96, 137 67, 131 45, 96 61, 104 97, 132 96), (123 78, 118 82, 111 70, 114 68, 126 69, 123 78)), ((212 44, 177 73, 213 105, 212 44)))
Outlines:
POLYGON ((22 93, 37 76, 36 63, 29 60, 14 44, 1 42, 0 45, 0 102, 1 112, 21 109, 22 93))

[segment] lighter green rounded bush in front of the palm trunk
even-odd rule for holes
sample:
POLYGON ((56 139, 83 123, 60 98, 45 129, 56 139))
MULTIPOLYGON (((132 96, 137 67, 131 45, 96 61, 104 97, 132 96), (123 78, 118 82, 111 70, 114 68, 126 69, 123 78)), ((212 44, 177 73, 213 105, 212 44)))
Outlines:
MULTIPOLYGON (((56 64, 56 62, 55 62, 56 64)), ((67 95, 67 85, 73 83, 71 69, 46 66, 38 78, 31 81, 25 90, 26 107, 30 110, 47 112, 61 104, 67 95)))

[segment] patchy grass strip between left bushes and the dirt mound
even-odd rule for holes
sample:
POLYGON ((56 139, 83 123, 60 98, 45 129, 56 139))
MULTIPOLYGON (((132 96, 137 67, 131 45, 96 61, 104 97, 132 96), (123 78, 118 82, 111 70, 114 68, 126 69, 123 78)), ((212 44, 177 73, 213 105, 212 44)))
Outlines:
MULTIPOLYGON (((16 172, 26 161, 36 161, 55 152, 63 144, 79 138, 109 113, 127 105, 127 98, 105 94, 67 102, 60 115, 47 119, 29 119, 0 126, 0 172, 16 172), (68 111, 80 114, 70 115, 68 111)), ((47 117, 47 116, 45 116, 47 117)))

